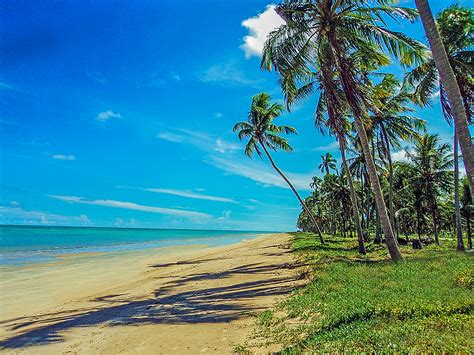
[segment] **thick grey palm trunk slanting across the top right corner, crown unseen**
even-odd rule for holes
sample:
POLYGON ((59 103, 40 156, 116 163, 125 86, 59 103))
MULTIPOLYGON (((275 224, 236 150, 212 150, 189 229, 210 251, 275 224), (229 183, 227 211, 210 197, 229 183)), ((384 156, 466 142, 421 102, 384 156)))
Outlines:
POLYGON ((472 146, 471 134, 469 133, 467 114, 463 104, 461 90, 459 90, 453 69, 449 64, 448 55, 441 41, 428 1, 415 0, 415 3, 420 13, 428 42, 430 43, 441 83, 448 96, 449 105, 453 110, 454 128, 458 136, 459 145, 461 146, 469 186, 471 187, 471 191, 474 191, 474 148, 472 146))

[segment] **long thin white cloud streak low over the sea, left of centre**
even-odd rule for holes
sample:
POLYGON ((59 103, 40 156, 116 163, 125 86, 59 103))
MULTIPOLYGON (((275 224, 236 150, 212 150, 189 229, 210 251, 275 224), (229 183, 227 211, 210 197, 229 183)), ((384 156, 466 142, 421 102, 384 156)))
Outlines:
POLYGON ((211 215, 206 214, 206 213, 201 213, 201 212, 176 210, 172 208, 163 208, 163 207, 155 207, 155 206, 145 206, 145 205, 139 205, 137 203, 127 202, 127 201, 86 200, 82 197, 62 196, 62 195, 48 195, 48 196, 56 200, 66 201, 70 203, 81 203, 85 205, 123 208, 127 210, 135 210, 135 211, 143 211, 143 212, 158 213, 158 214, 173 215, 173 216, 183 216, 183 217, 205 217, 205 218, 211 217, 211 215))

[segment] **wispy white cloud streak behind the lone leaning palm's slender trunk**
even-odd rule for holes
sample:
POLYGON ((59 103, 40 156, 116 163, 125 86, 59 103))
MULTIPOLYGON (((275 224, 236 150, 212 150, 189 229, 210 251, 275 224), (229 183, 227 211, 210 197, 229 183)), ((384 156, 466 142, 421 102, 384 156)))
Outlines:
MULTIPOLYGON (((235 160, 228 160, 216 156, 211 156, 208 163, 216 168, 224 170, 228 174, 244 176, 261 183, 263 187, 278 186, 289 188, 285 181, 283 181, 275 171, 261 163, 249 161, 248 163, 242 164, 235 160)), ((297 189, 309 190, 309 183, 315 174, 286 173, 286 175, 290 178, 291 182, 297 189)))

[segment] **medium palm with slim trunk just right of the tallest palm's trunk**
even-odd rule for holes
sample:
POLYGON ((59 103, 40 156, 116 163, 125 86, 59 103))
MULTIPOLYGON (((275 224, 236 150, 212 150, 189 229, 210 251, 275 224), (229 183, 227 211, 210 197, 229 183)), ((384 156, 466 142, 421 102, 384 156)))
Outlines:
POLYGON ((408 106, 412 95, 401 88, 394 75, 385 75, 382 82, 374 86, 373 95, 376 98, 376 107, 371 122, 379 143, 379 156, 387 160, 390 222, 396 229, 391 151, 400 148, 400 140, 412 140, 417 137, 418 131, 425 128, 425 121, 408 114, 413 111, 408 106))

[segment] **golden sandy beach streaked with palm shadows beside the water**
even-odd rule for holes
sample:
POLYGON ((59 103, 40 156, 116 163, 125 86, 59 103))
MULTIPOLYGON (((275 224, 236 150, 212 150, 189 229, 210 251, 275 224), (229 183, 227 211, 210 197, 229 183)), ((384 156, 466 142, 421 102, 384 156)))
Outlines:
MULTIPOLYGON (((230 246, 64 258, 2 275, 7 353, 231 353, 249 313, 298 283, 289 236, 230 246)), ((262 349, 263 350, 263 349, 262 349)))

